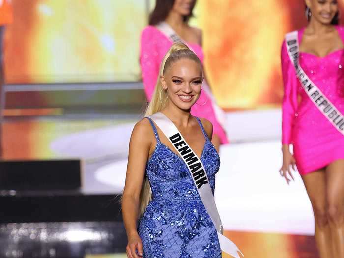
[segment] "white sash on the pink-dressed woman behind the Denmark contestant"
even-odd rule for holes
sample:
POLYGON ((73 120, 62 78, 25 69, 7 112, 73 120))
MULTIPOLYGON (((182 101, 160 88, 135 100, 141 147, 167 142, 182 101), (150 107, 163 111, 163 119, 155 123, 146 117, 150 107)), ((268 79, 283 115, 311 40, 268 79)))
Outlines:
MULTIPOLYGON (((184 40, 182 40, 179 35, 172 29, 172 27, 166 23, 166 22, 160 22, 156 25, 156 28, 159 29, 167 38, 169 38, 173 43, 176 42, 182 42, 185 45, 187 45, 192 51, 194 51, 192 49, 192 47, 185 42, 184 40)), ((195 52, 195 51, 194 51, 195 52)), ((226 126, 226 115, 225 112, 216 104, 216 99, 213 95, 213 93, 211 92, 211 89, 206 81, 206 79, 204 78, 203 83, 202 83, 202 87, 203 90, 205 91, 205 93, 207 94, 207 96, 210 98, 211 100, 211 105, 214 109, 214 113, 215 116, 218 120, 218 122, 221 124, 222 128, 225 130, 225 126, 226 126)))

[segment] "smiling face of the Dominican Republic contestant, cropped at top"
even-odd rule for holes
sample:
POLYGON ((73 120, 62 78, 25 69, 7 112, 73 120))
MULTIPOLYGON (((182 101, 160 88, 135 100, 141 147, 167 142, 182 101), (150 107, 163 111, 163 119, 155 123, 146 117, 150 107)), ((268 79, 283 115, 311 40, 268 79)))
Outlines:
POLYGON ((311 10, 311 19, 322 24, 330 24, 338 13, 337 0, 306 0, 306 5, 311 10))

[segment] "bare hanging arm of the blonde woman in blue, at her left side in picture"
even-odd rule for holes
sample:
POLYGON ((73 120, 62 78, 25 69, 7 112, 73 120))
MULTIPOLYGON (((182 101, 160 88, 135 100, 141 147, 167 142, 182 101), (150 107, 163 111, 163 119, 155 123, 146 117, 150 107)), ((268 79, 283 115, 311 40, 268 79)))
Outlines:
POLYGON ((136 250, 142 256, 142 242, 137 231, 140 192, 145 174, 146 162, 152 143, 151 129, 147 119, 138 122, 132 132, 125 187, 122 195, 122 214, 128 236, 127 255, 137 258, 136 250))

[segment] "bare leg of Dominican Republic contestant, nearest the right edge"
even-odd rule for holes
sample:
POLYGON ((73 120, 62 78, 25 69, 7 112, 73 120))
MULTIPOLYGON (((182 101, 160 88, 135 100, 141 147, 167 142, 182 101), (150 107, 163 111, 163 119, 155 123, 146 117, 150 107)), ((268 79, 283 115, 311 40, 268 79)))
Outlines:
POLYGON ((328 218, 333 243, 333 257, 344 257, 344 160, 326 168, 328 218))

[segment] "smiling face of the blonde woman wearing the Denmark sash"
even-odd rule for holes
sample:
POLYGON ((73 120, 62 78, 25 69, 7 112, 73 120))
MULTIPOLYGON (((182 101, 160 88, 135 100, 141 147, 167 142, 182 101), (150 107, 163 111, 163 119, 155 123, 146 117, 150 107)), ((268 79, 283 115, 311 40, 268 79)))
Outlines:
POLYGON ((163 90, 167 90, 169 104, 190 110, 201 94, 202 68, 194 60, 182 58, 172 63, 160 80, 163 90))

